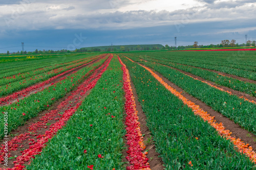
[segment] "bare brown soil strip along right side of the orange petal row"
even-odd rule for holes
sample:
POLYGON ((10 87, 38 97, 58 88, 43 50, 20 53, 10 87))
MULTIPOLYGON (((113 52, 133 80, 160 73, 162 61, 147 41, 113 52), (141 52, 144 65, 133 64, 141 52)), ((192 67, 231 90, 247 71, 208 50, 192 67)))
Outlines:
POLYGON ((208 114, 210 114, 211 116, 215 116, 216 119, 216 123, 222 123, 223 126, 229 130, 230 132, 232 132, 231 136, 232 137, 236 137, 236 138, 240 138, 242 141, 244 141, 245 143, 248 143, 253 151, 256 151, 256 135, 252 134, 251 132, 242 129, 238 124, 234 123, 232 120, 230 120, 229 118, 225 117, 224 115, 222 115, 221 113, 215 111, 214 109, 212 109, 210 106, 206 105, 205 103, 203 103, 202 101, 196 99, 194 96, 191 96, 190 94, 186 93, 182 88, 180 88, 179 86, 177 86, 176 84, 170 82, 168 79, 166 79, 165 77, 163 77, 161 74, 159 74, 159 72, 153 70, 155 72, 155 74, 157 74, 160 78, 162 78, 162 80, 167 83, 169 86, 173 87, 174 89, 176 89, 179 92, 182 92, 182 95, 188 99, 191 102, 194 102, 196 105, 199 105, 201 109, 203 109, 204 111, 206 111, 208 114), (250 137, 249 137, 250 136, 250 137))

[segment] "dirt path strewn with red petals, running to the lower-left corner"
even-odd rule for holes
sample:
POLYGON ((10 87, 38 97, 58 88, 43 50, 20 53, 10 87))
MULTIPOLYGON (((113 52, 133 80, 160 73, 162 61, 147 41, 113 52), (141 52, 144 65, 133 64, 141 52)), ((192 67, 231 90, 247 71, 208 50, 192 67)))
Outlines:
MULTIPOLYGON (((103 65, 105 65, 109 59, 107 59, 103 65)), ((91 89, 84 91, 84 88, 81 87, 87 87, 96 79, 98 79, 100 72, 102 69, 104 69, 104 67, 105 66, 100 66, 97 68, 88 79, 84 80, 84 82, 76 87, 73 91, 67 93, 62 99, 54 103, 54 105, 52 105, 49 110, 42 111, 38 114, 37 117, 28 120, 24 126, 19 127, 17 130, 11 132, 9 135, 9 141, 11 141, 10 145, 13 146, 13 150, 11 150, 11 148, 9 149, 10 156, 22 156, 24 150, 29 149, 30 146, 32 146, 32 144, 37 141, 39 136, 46 134, 46 132, 49 131, 51 125, 58 122, 59 118, 62 116, 61 113, 67 111, 69 108, 75 107, 78 103, 82 102, 86 96, 89 95, 91 89), (81 93, 84 94, 81 96, 81 93), (17 140, 15 140, 16 138, 17 140)), ((3 141, 0 143, 4 144, 3 141)), ((15 158, 8 160, 9 168, 14 167, 14 164, 16 163, 14 161, 16 161, 15 158)), ((1 162, 0 169, 6 168, 3 163, 4 162, 1 162)), ((29 161, 25 162, 25 164, 28 163, 29 161)))

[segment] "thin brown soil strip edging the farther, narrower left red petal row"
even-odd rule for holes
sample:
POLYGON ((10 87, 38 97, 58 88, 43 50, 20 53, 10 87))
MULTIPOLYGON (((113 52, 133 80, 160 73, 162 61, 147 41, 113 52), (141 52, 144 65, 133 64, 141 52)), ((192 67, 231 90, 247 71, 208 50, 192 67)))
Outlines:
MULTIPOLYGON (((27 98, 29 95, 31 95, 31 94, 33 94, 33 93, 35 93, 35 92, 37 92, 37 91, 40 91, 40 90, 42 90, 42 89, 44 89, 44 88, 49 87, 49 86, 51 85, 51 83, 55 83, 55 82, 59 81, 61 78, 68 76, 68 75, 71 74, 72 72, 78 71, 78 70, 80 70, 80 69, 82 69, 82 68, 84 68, 84 67, 86 67, 86 66, 88 66, 88 65, 94 64, 95 62, 97 62, 98 60, 100 60, 100 59, 103 58, 103 57, 104 57, 104 56, 99 57, 99 58, 93 60, 93 62, 91 62, 91 63, 90 63, 90 62, 89 62, 89 63, 86 63, 85 65, 83 65, 83 66, 81 66, 81 67, 78 66, 78 68, 75 68, 75 69, 73 69, 73 70, 68 71, 66 74, 57 77, 56 79, 50 81, 48 84, 45 84, 43 87, 40 87, 40 88, 35 89, 35 90, 33 90, 33 91, 30 91, 28 94, 26 94, 26 97, 20 95, 20 96, 18 96, 18 98, 15 98, 15 99, 12 100, 12 101, 7 101, 7 102, 9 102, 9 104, 7 104, 7 102, 5 102, 6 104, 2 104, 2 105, 0 104, 0 106, 8 106, 8 105, 10 105, 11 103, 16 102, 17 100, 22 100, 23 98, 27 98)), ((71 69, 72 69, 72 68, 71 68, 71 69)), ((50 78, 49 78, 49 79, 50 79, 50 78)), ((45 80, 45 81, 46 81, 46 80, 45 80)), ((36 84, 32 84, 32 85, 30 85, 30 86, 28 86, 28 87, 26 87, 26 88, 29 88, 29 87, 31 87, 31 86, 34 86, 34 85, 37 85, 37 84, 40 84, 40 83, 42 83, 42 82, 39 82, 39 83, 36 83, 36 84)), ((22 91, 22 90, 24 90, 24 89, 21 89, 21 90, 15 91, 15 92, 19 92, 19 91, 22 91)), ((8 95, 11 95, 11 94, 8 94, 8 95)), ((8 95, 6 95, 6 96, 8 96, 8 95)), ((5 96, 1 96, 1 98, 4 98, 4 97, 5 97, 5 96)))

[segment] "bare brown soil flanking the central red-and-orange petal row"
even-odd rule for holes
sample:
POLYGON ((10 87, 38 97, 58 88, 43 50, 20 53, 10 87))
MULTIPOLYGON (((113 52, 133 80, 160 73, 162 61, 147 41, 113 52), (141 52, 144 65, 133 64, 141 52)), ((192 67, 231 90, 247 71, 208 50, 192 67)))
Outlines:
MULTIPOLYGON (((150 163, 150 168, 152 170, 164 169, 164 166, 163 166, 164 163, 163 163, 162 159, 159 157, 160 154, 156 152, 155 144, 152 143, 153 140, 154 140, 154 137, 152 136, 150 130, 146 126, 146 115, 143 112, 140 103, 138 102, 138 94, 137 94, 135 86, 134 86, 134 84, 132 82, 131 76, 130 76, 130 80, 131 80, 131 87, 132 87, 132 90, 133 90, 133 95, 134 95, 134 98, 135 98, 136 109, 138 111, 137 115, 139 117, 138 121, 140 122, 140 131, 141 131, 142 134, 145 134, 145 136, 143 137, 143 142, 146 145, 146 148, 145 148, 144 151, 150 149, 148 151, 148 154, 146 155, 146 157, 148 158, 147 162, 150 163), (151 136, 152 136, 152 139, 151 139, 152 142, 151 143, 145 142, 151 136)), ((124 119, 124 122, 125 122, 125 119, 124 119)), ((123 137, 123 141, 125 142, 125 147, 129 148, 129 145, 127 145, 126 137, 123 137)), ((125 158, 126 156, 128 156, 126 151, 127 151, 127 149, 123 150, 123 152, 122 152, 122 154, 124 156, 124 158, 122 159, 123 162, 127 162, 127 160, 125 158)), ((131 166, 131 164, 130 164, 130 162, 127 162, 124 166, 131 166)))

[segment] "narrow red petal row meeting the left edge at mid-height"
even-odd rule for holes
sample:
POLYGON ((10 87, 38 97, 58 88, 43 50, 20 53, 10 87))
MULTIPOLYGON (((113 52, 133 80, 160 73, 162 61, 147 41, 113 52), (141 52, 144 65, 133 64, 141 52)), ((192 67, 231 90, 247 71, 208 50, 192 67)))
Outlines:
MULTIPOLYGON (((104 58, 104 57, 105 57, 105 56, 102 56, 101 58, 104 58)), ((99 59, 101 59, 101 58, 99 58, 99 59)), ((97 60, 97 59, 96 59, 96 60, 97 60)), ((91 61, 91 62, 89 62, 89 63, 83 64, 83 65, 80 65, 80 66, 78 66, 78 67, 74 67, 74 68, 69 69, 69 70, 67 70, 67 71, 64 71, 64 72, 62 72, 61 74, 59 74, 59 75, 57 75, 57 76, 54 76, 54 77, 52 77, 52 78, 50 78, 50 79, 48 79, 48 80, 46 80, 46 81, 44 81, 44 82, 41 82, 41 83, 36 84, 36 85, 33 85, 33 86, 28 87, 28 88, 26 88, 26 89, 23 89, 23 90, 21 90, 21 91, 14 92, 14 93, 12 93, 12 94, 10 94, 10 95, 8 95, 8 96, 5 96, 4 98, 0 98, 0 106, 3 105, 3 104, 6 104, 6 103, 9 104, 10 101, 12 101, 12 100, 18 98, 18 97, 21 96, 21 95, 25 95, 25 96, 26 96, 26 95, 27 95, 28 93, 30 93, 31 91, 37 90, 37 89, 39 89, 39 88, 41 88, 41 87, 47 85, 48 83, 50 83, 51 81, 57 79, 58 77, 61 77, 61 76, 65 75, 67 72, 70 72, 70 71, 72 71, 72 70, 74 70, 74 69, 83 67, 84 65, 91 64, 91 63, 94 62, 94 61, 95 61, 95 60, 93 60, 93 61, 91 61)))

